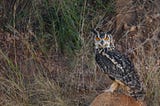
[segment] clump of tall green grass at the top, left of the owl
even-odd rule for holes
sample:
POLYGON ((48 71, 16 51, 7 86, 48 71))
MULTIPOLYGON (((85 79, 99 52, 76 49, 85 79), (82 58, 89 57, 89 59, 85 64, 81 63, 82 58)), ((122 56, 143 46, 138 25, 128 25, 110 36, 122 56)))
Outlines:
POLYGON ((55 45, 56 49, 68 55, 80 49, 81 9, 78 5, 80 1, 75 0, 46 0, 33 4, 37 20, 35 27, 39 30, 36 32, 37 37, 44 39, 45 48, 50 49, 55 45))

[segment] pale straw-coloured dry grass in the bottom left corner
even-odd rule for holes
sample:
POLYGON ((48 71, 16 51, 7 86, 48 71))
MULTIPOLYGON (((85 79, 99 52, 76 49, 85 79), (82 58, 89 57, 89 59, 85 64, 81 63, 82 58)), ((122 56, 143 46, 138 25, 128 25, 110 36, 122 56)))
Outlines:
MULTIPOLYGON (((61 88, 47 76, 47 70, 35 61, 30 60, 33 67, 28 67, 26 60, 16 65, 4 52, 0 51, 0 105, 2 106, 66 106, 61 88), (2 65, 3 64, 3 65, 2 65), (36 70, 25 75, 27 71, 36 70), (23 70, 24 69, 24 70, 23 70)), ((28 73, 28 72, 27 72, 28 73)))

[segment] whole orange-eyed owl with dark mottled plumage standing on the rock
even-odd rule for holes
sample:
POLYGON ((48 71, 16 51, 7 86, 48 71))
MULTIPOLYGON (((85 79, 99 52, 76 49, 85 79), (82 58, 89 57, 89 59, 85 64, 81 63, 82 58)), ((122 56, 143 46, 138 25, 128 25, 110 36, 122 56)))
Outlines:
POLYGON ((119 87, 136 100, 143 100, 145 91, 134 64, 129 58, 115 49, 112 35, 109 32, 92 30, 95 44, 95 60, 101 71, 113 80, 105 92, 114 92, 119 87))

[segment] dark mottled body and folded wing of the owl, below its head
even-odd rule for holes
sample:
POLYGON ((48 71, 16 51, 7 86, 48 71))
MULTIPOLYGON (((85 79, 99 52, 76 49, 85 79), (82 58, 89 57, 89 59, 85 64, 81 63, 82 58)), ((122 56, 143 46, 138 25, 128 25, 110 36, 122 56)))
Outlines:
POLYGON ((116 50, 96 50, 96 62, 100 69, 130 89, 142 91, 143 87, 133 63, 129 58, 116 50))

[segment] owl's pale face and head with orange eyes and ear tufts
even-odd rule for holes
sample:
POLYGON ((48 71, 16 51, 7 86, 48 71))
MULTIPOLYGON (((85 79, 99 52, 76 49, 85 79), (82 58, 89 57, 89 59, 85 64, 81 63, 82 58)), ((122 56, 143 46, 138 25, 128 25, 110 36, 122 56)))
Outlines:
POLYGON ((112 35, 109 32, 99 33, 97 30, 92 30, 94 33, 94 44, 95 49, 108 48, 109 50, 114 49, 114 43, 112 35))

